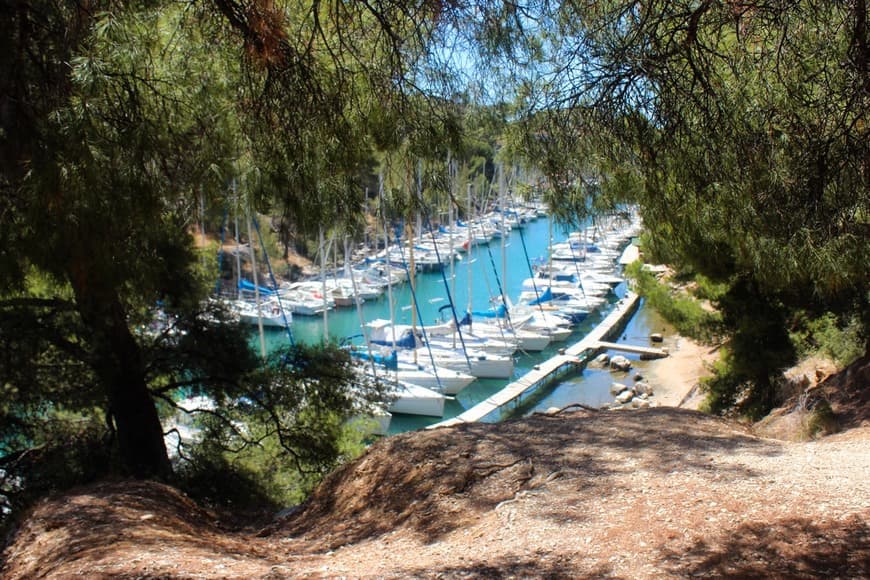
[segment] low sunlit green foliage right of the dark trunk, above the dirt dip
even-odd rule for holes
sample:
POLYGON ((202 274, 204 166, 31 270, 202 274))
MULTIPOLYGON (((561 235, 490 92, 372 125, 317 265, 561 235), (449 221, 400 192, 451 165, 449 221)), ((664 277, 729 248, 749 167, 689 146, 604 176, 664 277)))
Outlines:
POLYGON ((193 412, 201 431, 179 448, 178 473, 196 497, 246 507, 299 503, 362 452, 367 423, 353 418, 386 397, 329 344, 276 353, 253 378, 253 389, 193 412))

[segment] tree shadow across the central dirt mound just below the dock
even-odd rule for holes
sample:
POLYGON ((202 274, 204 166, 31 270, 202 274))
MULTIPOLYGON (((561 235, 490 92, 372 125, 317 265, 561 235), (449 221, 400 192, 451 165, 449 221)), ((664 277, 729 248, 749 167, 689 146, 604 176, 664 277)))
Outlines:
MULTIPOLYGON (((406 433, 334 473, 305 510, 268 533, 328 537, 318 549, 334 549, 408 527, 432 543, 549 477, 574 478, 591 501, 613 492, 608 478, 625 463, 637 462, 653 475, 707 473, 712 456, 737 448, 781 452, 733 424, 673 408, 537 415, 406 433), (656 453, 646 453, 649 448, 656 453), (614 464, 609 453, 624 461, 614 464)), ((720 478, 755 476, 737 466, 717 469, 720 478)))

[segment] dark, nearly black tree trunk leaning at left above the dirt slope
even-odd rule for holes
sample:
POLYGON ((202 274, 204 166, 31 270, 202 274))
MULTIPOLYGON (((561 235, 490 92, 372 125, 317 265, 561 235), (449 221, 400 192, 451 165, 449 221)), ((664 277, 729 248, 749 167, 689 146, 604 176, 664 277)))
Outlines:
POLYGON ((163 427, 124 307, 109 284, 94 283, 93 275, 74 278, 79 312, 91 330, 92 366, 107 395, 123 467, 135 477, 166 478, 172 467, 163 427))

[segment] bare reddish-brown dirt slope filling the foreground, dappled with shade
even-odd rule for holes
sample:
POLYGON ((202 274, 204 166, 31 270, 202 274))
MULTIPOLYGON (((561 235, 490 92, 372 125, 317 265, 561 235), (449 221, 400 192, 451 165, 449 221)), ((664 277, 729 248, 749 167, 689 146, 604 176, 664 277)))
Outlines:
POLYGON ((157 484, 46 500, 3 574, 866 578, 868 440, 761 439, 673 408, 408 433, 259 532, 157 484))

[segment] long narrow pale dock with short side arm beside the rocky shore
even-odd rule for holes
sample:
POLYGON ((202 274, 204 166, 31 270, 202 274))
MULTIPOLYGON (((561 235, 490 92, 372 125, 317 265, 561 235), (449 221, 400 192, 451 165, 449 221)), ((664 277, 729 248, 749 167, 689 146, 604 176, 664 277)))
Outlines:
MULTIPOLYGON (((497 411, 508 403, 518 401, 527 392, 548 385, 569 371, 582 367, 602 350, 609 348, 619 348, 623 351, 627 350, 627 345, 604 341, 607 338, 619 334, 626 321, 637 310, 639 304, 640 297, 634 292, 627 291, 625 297, 616 303, 613 311, 611 311, 604 320, 602 320, 579 342, 574 343, 566 349, 560 350, 559 354, 547 359, 541 364, 535 365, 535 368, 531 371, 527 372, 516 381, 508 384, 485 401, 481 401, 474 407, 456 417, 430 425, 427 429, 481 421, 484 417, 497 411)), ((661 349, 645 350, 654 350, 661 353, 661 356, 667 356, 667 352, 662 351, 661 349)))

